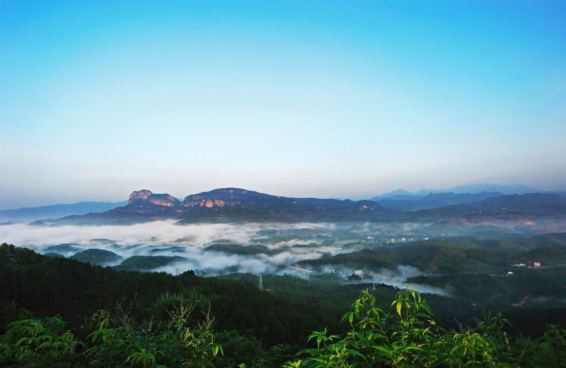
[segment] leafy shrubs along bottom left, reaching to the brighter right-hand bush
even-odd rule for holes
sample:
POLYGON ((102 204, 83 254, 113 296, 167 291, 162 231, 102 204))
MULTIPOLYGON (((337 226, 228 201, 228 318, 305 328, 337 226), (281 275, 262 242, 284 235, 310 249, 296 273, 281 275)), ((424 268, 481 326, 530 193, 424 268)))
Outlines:
POLYGON ((59 316, 36 318, 21 309, 0 335, 0 366, 275 368, 293 358, 288 344, 264 349, 255 336, 213 331, 210 309, 198 316, 206 301, 195 292, 164 293, 158 315, 143 321, 121 301, 73 330, 59 316))

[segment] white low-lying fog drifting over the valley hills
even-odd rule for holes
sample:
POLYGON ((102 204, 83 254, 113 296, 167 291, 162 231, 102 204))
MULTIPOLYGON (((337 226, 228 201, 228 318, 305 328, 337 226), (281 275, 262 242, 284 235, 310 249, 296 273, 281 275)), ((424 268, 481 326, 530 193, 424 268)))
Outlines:
MULTIPOLYGON (((58 253, 70 257, 87 249, 109 250, 126 259, 132 256, 177 256, 182 260, 152 269, 171 274, 187 270, 203 270, 208 275, 218 272, 251 272, 253 274, 295 274, 308 278, 308 274, 294 270, 291 266, 302 259, 318 259, 338 253, 354 252, 358 249, 341 246, 323 246, 319 240, 303 239, 278 241, 271 244, 266 230, 276 229, 287 234, 301 233, 309 229, 311 233, 326 235, 339 230, 331 223, 299 224, 194 224, 175 225, 173 221, 156 221, 130 226, 29 226, 13 224, 0 227, 0 242, 25 246, 38 253, 58 253), (296 231, 294 231, 294 230, 296 231), (264 231, 264 232, 262 232, 264 231), (214 244, 238 244, 267 246, 268 254, 230 254, 205 250, 214 244), (311 244, 313 246, 308 246, 311 244), (298 245, 298 246, 297 246, 298 245), (307 246, 305 246, 307 245, 307 246)), ((360 238, 364 234, 360 230, 360 238)), ((118 265, 123 261, 108 263, 118 265)), ((337 274, 351 275, 354 270, 332 266, 337 274)), ((398 266, 396 270, 373 270, 374 282, 402 287, 406 278, 422 272, 410 266, 398 266)), ((371 280, 362 280, 367 283, 371 280)), ((417 285, 422 292, 445 292, 428 285, 417 285)))

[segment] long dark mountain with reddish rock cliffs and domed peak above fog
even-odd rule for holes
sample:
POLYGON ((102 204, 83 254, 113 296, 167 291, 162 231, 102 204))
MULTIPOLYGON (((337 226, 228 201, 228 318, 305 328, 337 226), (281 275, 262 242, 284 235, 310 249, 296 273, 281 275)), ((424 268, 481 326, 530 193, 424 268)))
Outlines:
POLYGON ((179 201, 169 194, 136 191, 127 205, 85 215, 71 215, 56 224, 120 224, 177 219, 180 224, 218 222, 365 221, 387 209, 374 201, 272 196, 239 188, 191 194, 179 201))

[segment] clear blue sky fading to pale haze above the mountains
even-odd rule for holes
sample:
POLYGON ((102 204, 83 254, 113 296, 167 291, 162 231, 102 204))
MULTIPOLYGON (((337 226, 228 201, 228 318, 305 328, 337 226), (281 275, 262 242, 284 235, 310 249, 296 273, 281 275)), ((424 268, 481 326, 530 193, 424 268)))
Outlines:
POLYGON ((564 1, 2 1, 0 209, 566 190, 564 1))

